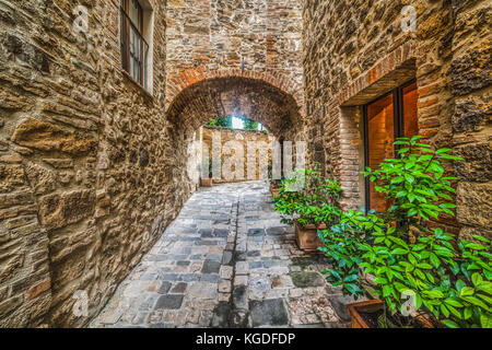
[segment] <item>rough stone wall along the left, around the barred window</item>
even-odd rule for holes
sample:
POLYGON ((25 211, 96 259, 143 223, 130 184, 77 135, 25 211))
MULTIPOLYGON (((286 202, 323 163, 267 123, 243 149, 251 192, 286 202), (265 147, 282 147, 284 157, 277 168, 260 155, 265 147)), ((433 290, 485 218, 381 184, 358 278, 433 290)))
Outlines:
POLYGON ((163 117, 165 2, 150 3, 153 96, 120 69, 119 1, 0 1, 2 327, 84 325, 190 192, 163 117))

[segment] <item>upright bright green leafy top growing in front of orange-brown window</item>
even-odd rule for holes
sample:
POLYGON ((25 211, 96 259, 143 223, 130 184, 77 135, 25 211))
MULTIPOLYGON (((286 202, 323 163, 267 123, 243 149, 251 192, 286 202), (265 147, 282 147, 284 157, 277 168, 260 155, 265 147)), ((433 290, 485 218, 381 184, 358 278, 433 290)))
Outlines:
POLYGON ((444 176, 442 160, 460 160, 449 154, 449 149, 434 151, 431 145, 420 143, 421 136, 400 138, 399 156, 385 160, 378 170, 362 172, 375 184, 376 191, 386 194, 393 202, 385 220, 396 226, 396 235, 406 237, 411 228, 425 231, 425 221, 440 214, 454 215, 452 202, 456 177, 444 176))

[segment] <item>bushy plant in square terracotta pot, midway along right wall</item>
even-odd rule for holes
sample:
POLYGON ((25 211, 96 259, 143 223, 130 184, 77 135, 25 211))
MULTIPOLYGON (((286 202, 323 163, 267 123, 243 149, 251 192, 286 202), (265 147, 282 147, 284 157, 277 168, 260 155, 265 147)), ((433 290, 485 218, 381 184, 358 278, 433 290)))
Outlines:
POLYGON ((323 245, 318 230, 325 230, 338 220, 340 191, 337 180, 320 176, 319 164, 314 170, 295 170, 282 180, 279 196, 273 199, 274 208, 288 215, 282 218, 284 223, 294 225, 301 249, 318 252, 323 245))

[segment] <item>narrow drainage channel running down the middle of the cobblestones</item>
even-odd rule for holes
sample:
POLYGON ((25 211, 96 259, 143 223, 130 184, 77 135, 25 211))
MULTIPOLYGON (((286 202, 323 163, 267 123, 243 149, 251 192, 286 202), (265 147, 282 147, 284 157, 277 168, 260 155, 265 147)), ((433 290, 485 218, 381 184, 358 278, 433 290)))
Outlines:
POLYGON ((237 194, 237 200, 232 208, 231 215, 231 229, 234 230, 234 245, 232 250, 224 252, 224 259, 222 259, 223 266, 232 267, 231 276, 231 298, 229 302, 220 302, 214 311, 212 317, 212 328, 246 328, 248 326, 248 301, 247 291, 245 285, 234 285, 234 280, 236 277, 236 262, 242 260, 246 256, 246 252, 242 253, 243 257, 239 256, 237 249, 237 240, 239 236, 238 232, 238 218, 239 218, 239 206, 241 206, 241 192, 237 194))

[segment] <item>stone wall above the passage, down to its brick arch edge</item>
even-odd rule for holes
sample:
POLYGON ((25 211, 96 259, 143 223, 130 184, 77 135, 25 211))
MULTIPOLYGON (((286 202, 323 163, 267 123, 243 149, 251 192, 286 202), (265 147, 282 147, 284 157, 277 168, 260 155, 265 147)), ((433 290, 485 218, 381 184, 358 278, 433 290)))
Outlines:
POLYGON ((171 0, 166 105, 216 77, 261 79, 303 106, 301 0, 171 0))

